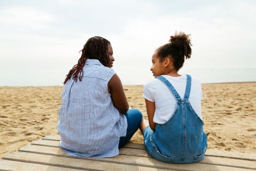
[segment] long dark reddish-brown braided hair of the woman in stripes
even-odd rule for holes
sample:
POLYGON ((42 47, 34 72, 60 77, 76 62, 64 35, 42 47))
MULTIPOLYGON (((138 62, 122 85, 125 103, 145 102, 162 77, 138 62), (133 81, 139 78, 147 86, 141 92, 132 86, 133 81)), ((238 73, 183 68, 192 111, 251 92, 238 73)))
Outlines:
POLYGON ((66 84, 71 76, 75 82, 77 82, 78 78, 79 81, 82 81, 82 77, 84 75, 83 67, 85 65, 86 59, 98 59, 102 65, 108 66, 110 64, 107 53, 108 45, 110 45, 110 41, 99 36, 94 36, 88 39, 84 45, 84 48, 81 50, 81 57, 78 59, 77 64, 74 65, 66 75, 66 79, 63 83, 66 84))

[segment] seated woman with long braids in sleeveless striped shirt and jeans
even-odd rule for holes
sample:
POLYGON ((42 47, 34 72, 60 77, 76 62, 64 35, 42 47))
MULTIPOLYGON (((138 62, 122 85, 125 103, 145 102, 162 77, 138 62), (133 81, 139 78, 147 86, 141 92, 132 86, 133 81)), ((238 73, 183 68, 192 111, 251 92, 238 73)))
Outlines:
POLYGON ((111 67, 110 42, 87 40, 64 81, 59 109, 59 146, 74 157, 113 157, 137 131, 142 114, 129 109, 121 80, 111 67))

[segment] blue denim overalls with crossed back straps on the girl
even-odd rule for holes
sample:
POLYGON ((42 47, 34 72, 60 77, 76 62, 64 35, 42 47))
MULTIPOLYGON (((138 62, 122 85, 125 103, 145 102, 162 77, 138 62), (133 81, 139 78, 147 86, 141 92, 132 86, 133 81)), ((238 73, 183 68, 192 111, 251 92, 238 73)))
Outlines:
POLYGON ((197 116, 188 101, 191 76, 187 75, 187 86, 182 100, 172 84, 163 76, 163 81, 177 100, 174 115, 165 124, 156 124, 155 131, 146 127, 145 148, 150 156, 167 163, 195 163, 204 159, 207 136, 203 131, 203 121, 197 116))

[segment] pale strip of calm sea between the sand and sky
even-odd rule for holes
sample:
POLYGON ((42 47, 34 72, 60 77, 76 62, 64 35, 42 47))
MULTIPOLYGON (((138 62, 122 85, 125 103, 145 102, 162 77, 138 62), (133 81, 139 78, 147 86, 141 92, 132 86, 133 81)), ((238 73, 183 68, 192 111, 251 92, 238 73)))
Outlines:
MULTIPOLYGON (((115 70, 123 85, 145 85, 154 79, 150 70, 115 70)), ((181 68, 201 83, 256 82, 256 68, 181 68)), ((35 71, 0 73, 0 86, 63 86, 66 71, 35 71)))

